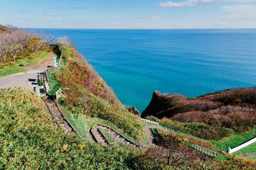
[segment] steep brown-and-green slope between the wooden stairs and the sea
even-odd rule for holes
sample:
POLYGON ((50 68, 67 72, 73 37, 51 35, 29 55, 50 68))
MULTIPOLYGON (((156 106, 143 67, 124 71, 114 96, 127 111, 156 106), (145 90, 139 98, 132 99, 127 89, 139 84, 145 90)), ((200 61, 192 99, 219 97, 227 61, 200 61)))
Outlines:
MULTIPOLYGON (((113 90, 100 78, 99 74, 72 48, 61 45, 63 65, 49 75, 50 93, 61 88, 67 94, 63 107, 79 116, 96 117, 107 120, 133 138, 142 138, 143 126, 140 117, 125 110, 113 90)), ((83 127, 82 127, 83 128, 83 127)))

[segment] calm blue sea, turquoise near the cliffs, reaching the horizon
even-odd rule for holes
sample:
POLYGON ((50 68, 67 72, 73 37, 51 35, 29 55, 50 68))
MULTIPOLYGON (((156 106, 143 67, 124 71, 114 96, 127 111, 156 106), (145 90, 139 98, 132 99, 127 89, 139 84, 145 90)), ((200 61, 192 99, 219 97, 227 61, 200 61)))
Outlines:
POLYGON ((125 106, 256 85, 256 29, 43 29, 68 36, 125 106))

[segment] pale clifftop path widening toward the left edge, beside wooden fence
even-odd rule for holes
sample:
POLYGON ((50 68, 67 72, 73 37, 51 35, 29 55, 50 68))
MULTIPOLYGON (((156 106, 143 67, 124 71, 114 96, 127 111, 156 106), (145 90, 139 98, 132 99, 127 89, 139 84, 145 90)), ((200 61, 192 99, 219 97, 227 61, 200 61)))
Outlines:
POLYGON ((52 57, 54 56, 53 52, 50 52, 49 57, 42 60, 40 64, 37 64, 35 66, 28 66, 26 67, 25 71, 22 73, 13 74, 10 76, 4 76, 0 78, 0 88, 6 88, 6 87, 18 87, 23 86, 29 90, 33 90, 33 83, 36 83, 35 81, 31 82, 28 81, 29 79, 37 79, 37 73, 43 72, 45 69, 47 69, 47 66, 52 65, 52 57))

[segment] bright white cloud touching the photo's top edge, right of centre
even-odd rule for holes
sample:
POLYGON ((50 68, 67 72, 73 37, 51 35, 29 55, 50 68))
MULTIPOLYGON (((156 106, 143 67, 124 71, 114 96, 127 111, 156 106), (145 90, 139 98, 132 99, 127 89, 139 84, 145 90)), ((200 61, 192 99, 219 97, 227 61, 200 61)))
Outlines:
MULTIPOLYGON (((199 0, 202 3, 214 3, 214 2, 236 2, 236 3, 248 3, 253 2, 255 0, 199 0)), ((182 6, 195 6, 198 3, 198 0, 188 0, 188 1, 181 1, 181 2, 173 2, 173 1, 166 1, 159 3, 161 7, 182 7, 182 6)))

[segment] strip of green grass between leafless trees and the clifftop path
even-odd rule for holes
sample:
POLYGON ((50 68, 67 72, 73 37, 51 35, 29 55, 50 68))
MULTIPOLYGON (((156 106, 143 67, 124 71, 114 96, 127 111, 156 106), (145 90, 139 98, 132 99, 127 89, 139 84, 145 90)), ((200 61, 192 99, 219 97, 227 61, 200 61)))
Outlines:
POLYGON ((48 48, 44 51, 40 51, 37 55, 34 56, 34 59, 19 59, 19 57, 17 57, 14 65, 11 65, 10 62, 6 64, 0 64, 0 77, 10 76, 12 74, 23 72, 24 69, 26 69, 26 66, 20 66, 20 63, 22 62, 27 62, 27 66, 34 66, 39 64, 42 59, 49 57, 49 52, 47 52, 47 50, 48 48))

